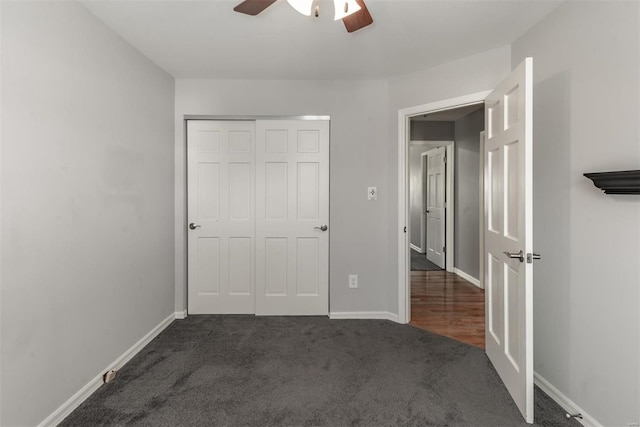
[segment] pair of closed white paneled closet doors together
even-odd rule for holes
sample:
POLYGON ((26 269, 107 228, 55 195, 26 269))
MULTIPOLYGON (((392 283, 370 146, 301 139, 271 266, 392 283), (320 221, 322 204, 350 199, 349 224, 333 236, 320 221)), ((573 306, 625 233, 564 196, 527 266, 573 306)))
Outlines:
POLYGON ((190 120, 187 147, 188 312, 327 315, 329 121, 190 120))

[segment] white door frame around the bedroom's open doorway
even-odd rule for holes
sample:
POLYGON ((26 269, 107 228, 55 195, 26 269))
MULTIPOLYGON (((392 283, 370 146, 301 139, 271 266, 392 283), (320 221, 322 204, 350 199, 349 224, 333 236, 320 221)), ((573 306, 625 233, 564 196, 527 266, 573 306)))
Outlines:
MULTIPOLYGON (((491 90, 398 110, 398 320, 411 320, 411 256, 409 253, 409 119, 484 102, 491 90)), ((481 254, 482 255, 482 254, 481 254)), ((482 283, 482 278, 481 278, 482 283)))

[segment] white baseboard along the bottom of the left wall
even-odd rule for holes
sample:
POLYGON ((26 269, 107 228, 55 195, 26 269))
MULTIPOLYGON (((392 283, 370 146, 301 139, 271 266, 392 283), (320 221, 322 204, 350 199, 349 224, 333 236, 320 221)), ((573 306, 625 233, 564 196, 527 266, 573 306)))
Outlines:
POLYGON ((76 409, 82 402, 84 402, 89 396, 91 396, 100 386, 103 384, 102 375, 111 369, 118 370, 124 366, 129 360, 133 358, 140 350, 151 342, 155 337, 160 334, 167 326, 173 322, 176 318, 175 313, 171 313, 166 319, 160 322, 149 333, 142 337, 137 343, 135 343, 129 350, 125 351, 114 362, 109 364, 106 368, 98 373, 98 375, 89 381, 84 387, 82 387, 76 394, 71 396, 69 400, 64 402, 62 406, 56 409, 51 415, 44 419, 39 427, 57 426, 64 420, 74 409, 76 409))

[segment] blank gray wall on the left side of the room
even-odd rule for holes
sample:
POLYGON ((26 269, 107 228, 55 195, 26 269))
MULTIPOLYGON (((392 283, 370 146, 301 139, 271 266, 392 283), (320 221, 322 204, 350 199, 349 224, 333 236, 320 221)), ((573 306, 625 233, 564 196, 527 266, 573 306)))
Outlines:
POLYGON ((174 311, 174 82, 78 3, 0 7, 0 424, 37 425, 174 311))

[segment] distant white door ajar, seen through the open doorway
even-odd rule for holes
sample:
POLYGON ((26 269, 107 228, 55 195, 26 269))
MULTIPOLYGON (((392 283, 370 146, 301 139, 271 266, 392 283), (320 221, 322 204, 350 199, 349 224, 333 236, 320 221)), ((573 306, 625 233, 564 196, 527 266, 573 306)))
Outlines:
POLYGON ((445 265, 445 156, 446 148, 427 152, 425 213, 427 216, 427 259, 444 269, 445 265))

